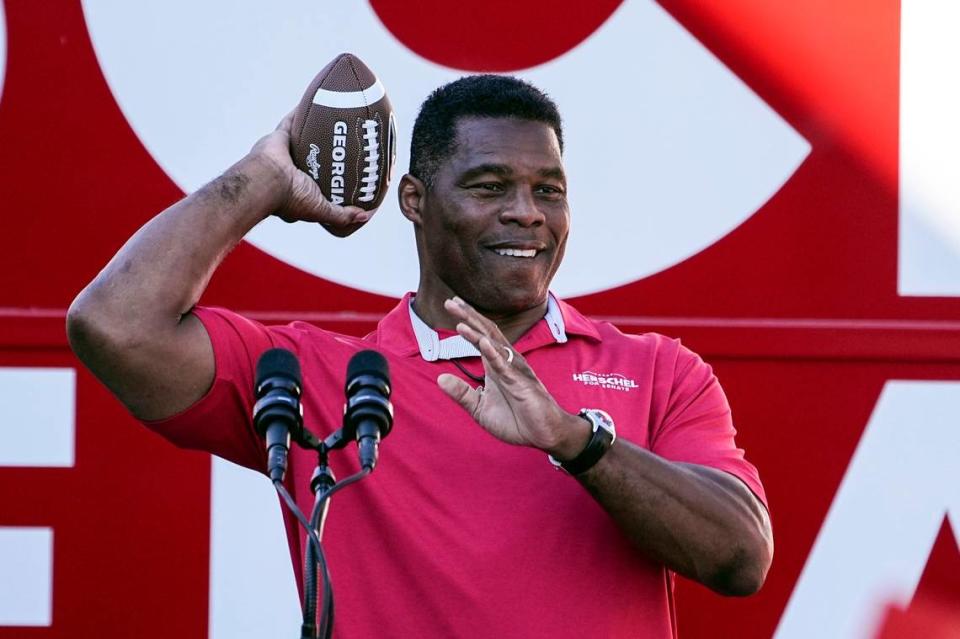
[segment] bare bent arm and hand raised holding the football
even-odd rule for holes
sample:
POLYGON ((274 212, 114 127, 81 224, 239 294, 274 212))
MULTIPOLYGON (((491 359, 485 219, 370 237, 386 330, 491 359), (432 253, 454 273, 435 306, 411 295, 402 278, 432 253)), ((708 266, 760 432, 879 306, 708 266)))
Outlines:
POLYGON ((223 258, 271 213, 349 235, 369 218, 331 204, 290 159, 292 114, 250 153, 137 231, 67 312, 74 352, 130 411, 161 419, 210 388, 213 349, 190 310, 223 258))

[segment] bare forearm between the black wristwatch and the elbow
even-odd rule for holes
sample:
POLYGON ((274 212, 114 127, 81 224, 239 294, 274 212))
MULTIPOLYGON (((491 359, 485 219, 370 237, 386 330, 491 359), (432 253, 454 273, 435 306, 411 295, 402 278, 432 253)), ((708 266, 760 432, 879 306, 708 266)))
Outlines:
POLYGON ((735 477, 621 439, 577 479, 642 552, 671 570, 727 595, 763 584, 773 554, 769 519, 735 477))

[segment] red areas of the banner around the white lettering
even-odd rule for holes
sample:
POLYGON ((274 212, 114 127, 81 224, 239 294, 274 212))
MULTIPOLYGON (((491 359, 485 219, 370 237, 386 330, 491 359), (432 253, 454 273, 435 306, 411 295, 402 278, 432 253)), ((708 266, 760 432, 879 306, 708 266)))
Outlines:
MULTIPOLYGON (((577 47, 619 5, 517 4, 372 2, 423 58, 507 72, 577 47)), ((714 365, 768 492, 776 557, 748 599, 681 583, 681 636, 770 637, 884 384, 960 379, 960 299, 897 290, 898 2, 660 4, 812 148, 782 189, 712 246, 572 301, 627 331, 679 336, 714 365)), ((0 627, 0 639, 206 637, 209 458, 136 425, 63 332, 77 292, 183 192, 118 107, 79 2, 8 0, 5 16, 0 367, 78 372, 74 466, 0 467, 0 526, 55 531, 52 625, 0 627)), ((247 243, 204 302, 354 334, 394 303, 247 243)), ((934 563, 956 563, 949 519, 936 549, 934 563)), ((948 595, 954 605, 957 596, 948 595)))

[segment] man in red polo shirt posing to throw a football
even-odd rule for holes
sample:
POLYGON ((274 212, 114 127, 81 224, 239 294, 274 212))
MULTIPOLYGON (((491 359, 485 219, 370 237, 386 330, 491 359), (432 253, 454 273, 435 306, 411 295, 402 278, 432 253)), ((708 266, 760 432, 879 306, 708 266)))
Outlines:
MULTIPOLYGON (((710 368, 548 293, 570 221, 549 98, 473 76, 424 103, 399 185, 420 282, 364 339, 195 306, 271 212, 340 236, 369 219, 295 169, 289 130, 288 117, 140 229, 74 302, 68 331, 149 427, 260 470, 260 353, 300 357, 315 431, 337 424, 350 355, 386 354, 395 428, 326 532, 340 636, 669 637, 674 572, 723 594, 760 587, 772 555, 763 488, 710 368)), ((585 223, 603 223, 593 215, 585 223)), ((306 509, 314 459, 291 455, 306 509)), ((339 476, 356 469, 338 463, 339 476)))

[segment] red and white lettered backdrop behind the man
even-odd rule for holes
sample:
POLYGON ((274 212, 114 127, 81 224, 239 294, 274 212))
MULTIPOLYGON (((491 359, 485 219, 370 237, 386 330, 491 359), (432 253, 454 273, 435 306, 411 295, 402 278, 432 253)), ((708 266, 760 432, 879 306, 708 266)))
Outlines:
MULTIPOLYGON (((545 88, 574 212, 556 291, 716 368, 776 559, 749 599, 681 583, 681 636, 870 637, 890 604, 894 636, 922 600, 955 609, 958 25, 922 0, 6 0, 0 639, 296 636, 268 483, 136 425, 63 319, 341 51, 387 86, 401 170, 438 84, 545 88)), ((364 333, 415 281, 388 199, 346 241, 265 222, 204 300, 364 333)))

